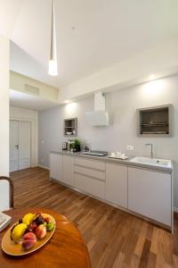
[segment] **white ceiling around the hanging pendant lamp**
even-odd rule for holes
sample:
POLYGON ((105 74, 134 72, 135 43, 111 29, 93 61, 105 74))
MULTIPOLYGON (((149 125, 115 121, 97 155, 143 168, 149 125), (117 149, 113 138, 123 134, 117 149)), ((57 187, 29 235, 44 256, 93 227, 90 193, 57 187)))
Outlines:
POLYGON ((6 2, 13 4, 4 20, 14 9, 11 38, 25 52, 12 45, 12 70, 56 87, 178 35, 177 0, 55 0, 59 76, 51 78, 47 73, 51 0, 5 0, 0 1, 0 10, 6 2), (33 57, 32 68, 27 57, 33 57))

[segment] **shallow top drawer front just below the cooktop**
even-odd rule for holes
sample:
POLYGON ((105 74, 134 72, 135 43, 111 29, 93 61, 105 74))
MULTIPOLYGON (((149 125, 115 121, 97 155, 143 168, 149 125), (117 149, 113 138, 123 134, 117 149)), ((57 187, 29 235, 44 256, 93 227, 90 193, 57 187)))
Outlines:
POLYGON ((105 163, 100 162, 100 161, 83 159, 83 158, 76 158, 75 164, 105 172, 105 163))

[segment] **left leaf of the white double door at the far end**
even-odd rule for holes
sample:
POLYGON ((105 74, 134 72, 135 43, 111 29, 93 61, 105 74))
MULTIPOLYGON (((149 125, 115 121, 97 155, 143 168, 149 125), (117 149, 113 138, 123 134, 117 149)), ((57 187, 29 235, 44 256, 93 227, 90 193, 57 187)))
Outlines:
POLYGON ((19 123, 18 121, 10 121, 10 172, 18 171, 19 169, 19 123))

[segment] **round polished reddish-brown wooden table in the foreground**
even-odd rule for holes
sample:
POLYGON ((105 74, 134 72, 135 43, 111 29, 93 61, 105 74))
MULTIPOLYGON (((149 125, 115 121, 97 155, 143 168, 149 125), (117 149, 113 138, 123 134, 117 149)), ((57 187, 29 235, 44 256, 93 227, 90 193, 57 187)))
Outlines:
MULTIPOLYGON (((44 247, 38 249, 35 253, 26 256, 10 256, 0 252, 0 268, 7 267, 30 267, 30 268, 89 268, 91 267, 90 257, 85 240, 82 239, 79 231, 69 219, 53 210, 45 208, 23 208, 12 209, 5 213, 12 216, 12 223, 18 222, 23 215, 28 213, 43 212, 53 215, 56 221, 56 230, 53 238, 48 241, 44 247)), ((12 225, 12 224, 11 224, 12 225)), ((0 232, 0 242, 4 232, 0 232)))

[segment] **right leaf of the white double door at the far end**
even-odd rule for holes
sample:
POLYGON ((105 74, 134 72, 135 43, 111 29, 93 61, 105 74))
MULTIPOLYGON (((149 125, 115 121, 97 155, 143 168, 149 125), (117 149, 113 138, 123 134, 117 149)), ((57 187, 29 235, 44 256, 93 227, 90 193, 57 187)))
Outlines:
POLYGON ((31 123, 19 121, 19 170, 30 167, 31 123))

